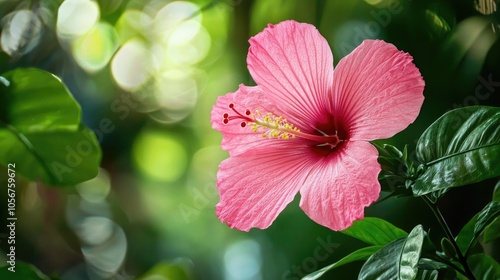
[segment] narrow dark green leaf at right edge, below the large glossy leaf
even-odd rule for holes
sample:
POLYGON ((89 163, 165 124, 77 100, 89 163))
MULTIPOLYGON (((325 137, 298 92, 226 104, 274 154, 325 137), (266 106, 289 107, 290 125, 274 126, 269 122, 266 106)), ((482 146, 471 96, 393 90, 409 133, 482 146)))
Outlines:
POLYGON ((500 202, 492 201, 488 203, 483 210, 477 213, 472 219, 460 230, 460 233, 455 238, 460 251, 467 255, 471 246, 474 245, 477 238, 484 231, 486 226, 495 220, 500 214, 500 202))

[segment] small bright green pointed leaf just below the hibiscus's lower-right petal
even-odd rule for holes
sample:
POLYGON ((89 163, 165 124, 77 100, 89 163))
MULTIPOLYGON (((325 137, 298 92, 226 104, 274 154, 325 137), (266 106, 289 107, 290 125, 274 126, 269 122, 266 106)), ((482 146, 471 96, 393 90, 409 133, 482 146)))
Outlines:
POLYGON ((355 221, 352 226, 341 232, 370 245, 386 245, 395 239, 408 236, 404 230, 375 217, 355 221))

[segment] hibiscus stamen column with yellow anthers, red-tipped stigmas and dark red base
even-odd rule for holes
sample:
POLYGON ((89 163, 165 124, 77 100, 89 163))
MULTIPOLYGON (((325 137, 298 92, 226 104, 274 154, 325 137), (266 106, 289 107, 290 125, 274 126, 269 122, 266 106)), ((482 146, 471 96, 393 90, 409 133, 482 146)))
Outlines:
POLYGON ((290 139, 298 137, 314 141, 316 147, 328 148, 330 150, 344 141, 339 138, 337 131, 335 131, 335 134, 327 134, 316 129, 320 135, 304 133, 295 125, 289 123, 287 119, 276 116, 273 113, 261 114, 259 110, 255 110, 255 113, 252 113, 249 109, 246 109, 245 113, 242 114, 234 108, 233 103, 230 103, 228 107, 234 112, 234 115, 224 113, 222 120, 224 124, 228 124, 233 120, 240 121, 241 127, 246 127, 248 124, 251 124, 253 132, 260 133, 266 138, 290 139))

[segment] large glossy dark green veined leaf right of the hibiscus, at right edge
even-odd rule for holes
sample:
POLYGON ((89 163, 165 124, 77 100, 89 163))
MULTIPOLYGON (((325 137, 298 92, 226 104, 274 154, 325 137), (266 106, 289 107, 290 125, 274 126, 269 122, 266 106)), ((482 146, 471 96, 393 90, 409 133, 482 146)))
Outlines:
POLYGON ((500 175, 500 108, 473 106, 441 116, 422 134, 417 158, 424 173, 416 196, 500 175))

